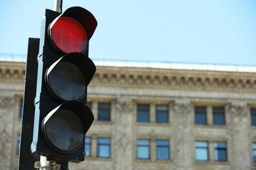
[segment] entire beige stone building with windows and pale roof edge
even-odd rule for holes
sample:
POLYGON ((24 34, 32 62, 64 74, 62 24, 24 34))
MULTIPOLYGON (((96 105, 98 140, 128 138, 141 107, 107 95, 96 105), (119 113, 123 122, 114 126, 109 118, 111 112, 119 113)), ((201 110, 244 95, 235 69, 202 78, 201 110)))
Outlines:
MULTIPOLYGON (((256 67, 96 61, 70 169, 256 169, 256 67)), ((0 61, 0 169, 17 169, 24 62, 0 61)))

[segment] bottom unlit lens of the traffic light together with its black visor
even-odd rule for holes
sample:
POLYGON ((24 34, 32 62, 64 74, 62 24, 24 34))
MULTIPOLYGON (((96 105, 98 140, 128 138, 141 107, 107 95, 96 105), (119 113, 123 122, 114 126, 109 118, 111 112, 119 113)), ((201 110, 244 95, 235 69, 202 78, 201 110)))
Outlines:
POLYGON ((45 116, 42 123, 43 135, 55 150, 74 152, 83 143, 93 119, 93 113, 86 105, 68 101, 45 116))

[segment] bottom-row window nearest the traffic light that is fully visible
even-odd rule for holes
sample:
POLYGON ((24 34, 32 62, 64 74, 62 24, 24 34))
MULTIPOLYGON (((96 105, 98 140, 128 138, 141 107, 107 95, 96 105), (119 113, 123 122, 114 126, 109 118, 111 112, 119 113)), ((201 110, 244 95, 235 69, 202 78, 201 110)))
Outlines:
POLYGON ((98 143, 97 156, 99 158, 110 158, 110 139, 98 138, 97 143, 98 143))

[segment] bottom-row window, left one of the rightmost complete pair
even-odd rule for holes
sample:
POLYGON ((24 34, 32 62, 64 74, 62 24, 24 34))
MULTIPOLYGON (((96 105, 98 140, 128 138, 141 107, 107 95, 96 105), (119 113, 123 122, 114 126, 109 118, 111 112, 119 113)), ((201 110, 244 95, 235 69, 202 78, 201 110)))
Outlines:
POLYGON ((208 161, 208 143, 206 141, 196 141, 196 160, 208 161))

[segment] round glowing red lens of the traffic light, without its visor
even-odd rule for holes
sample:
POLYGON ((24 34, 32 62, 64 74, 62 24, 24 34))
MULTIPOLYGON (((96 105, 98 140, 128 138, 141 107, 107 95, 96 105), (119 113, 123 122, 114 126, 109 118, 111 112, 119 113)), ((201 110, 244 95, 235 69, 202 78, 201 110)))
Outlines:
POLYGON ((56 47, 64 53, 83 52, 88 43, 83 25, 68 16, 56 20, 50 29, 50 36, 56 47))

